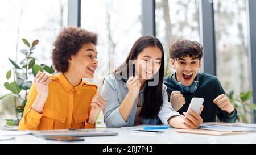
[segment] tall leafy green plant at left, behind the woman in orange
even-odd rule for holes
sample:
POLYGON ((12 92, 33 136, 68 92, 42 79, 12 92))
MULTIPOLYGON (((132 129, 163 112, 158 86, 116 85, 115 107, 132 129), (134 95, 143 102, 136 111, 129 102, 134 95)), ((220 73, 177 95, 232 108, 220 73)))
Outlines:
POLYGON ((32 56, 36 45, 38 45, 39 40, 34 40, 32 44, 30 44, 26 39, 22 39, 23 43, 27 45, 27 49, 21 49, 20 52, 23 53, 24 58, 19 64, 13 60, 10 60, 11 64, 13 64, 13 68, 6 73, 6 79, 11 81, 11 77, 13 76, 12 82, 5 82, 4 86, 7 90, 11 91, 11 93, 3 95, 0 99, 3 99, 9 95, 13 95, 14 97, 14 107, 15 107, 15 119, 5 119, 6 125, 18 125, 20 122, 20 118, 22 118, 24 107, 27 102, 28 91, 31 87, 32 81, 30 80, 31 75, 34 77, 36 73, 40 70, 52 74, 54 72, 52 66, 47 66, 45 64, 36 64, 36 58, 32 56), (32 52, 33 51, 33 52, 32 52), (21 104, 20 104, 21 103, 21 104))

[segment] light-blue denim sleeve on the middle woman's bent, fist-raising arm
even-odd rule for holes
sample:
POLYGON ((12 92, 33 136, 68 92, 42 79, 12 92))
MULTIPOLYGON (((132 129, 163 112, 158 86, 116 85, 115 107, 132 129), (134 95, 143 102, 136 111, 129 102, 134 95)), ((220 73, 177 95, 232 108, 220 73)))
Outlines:
POLYGON ((118 100, 117 79, 113 75, 105 77, 101 95, 106 100, 103 109, 104 122, 107 127, 123 127, 128 123, 122 118, 119 112, 120 102, 118 100))

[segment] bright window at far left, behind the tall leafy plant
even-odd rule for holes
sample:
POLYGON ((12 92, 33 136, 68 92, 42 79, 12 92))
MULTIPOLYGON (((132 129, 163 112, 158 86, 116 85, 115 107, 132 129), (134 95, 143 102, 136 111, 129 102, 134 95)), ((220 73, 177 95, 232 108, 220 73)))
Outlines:
MULTIPOLYGON (((20 62, 24 57, 20 49, 26 45, 22 38, 39 40, 34 56, 38 63, 51 65, 52 44, 57 33, 67 26, 68 0, 1 0, 0 1, 0 96, 9 93, 3 83, 6 72, 13 67, 8 58, 20 62)), ((13 118, 13 97, 0 100, 0 118, 13 118)), ((0 119, 0 127, 5 124, 0 119)))

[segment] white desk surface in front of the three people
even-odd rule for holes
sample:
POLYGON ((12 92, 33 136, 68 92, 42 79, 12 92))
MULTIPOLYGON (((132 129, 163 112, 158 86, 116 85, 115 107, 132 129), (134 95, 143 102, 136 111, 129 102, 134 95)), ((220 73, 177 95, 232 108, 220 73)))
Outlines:
MULTIPOLYGON (((97 128, 101 129, 101 128, 97 128)), ((256 143, 256 133, 247 133, 242 135, 210 136, 196 135, 190 133, 177 133, 174 128, 163 129, 163 134, 140 134, 132 133, 131 129, 125 128, 107 128, 109 131, 115 131, 117 136, 98 136, 84 137, 85 141, 63 142, 45 140, 32 135, 15 136, 12 140, 3 140, 0 143, 123 143, 123 144, 158 144, 158 143, 256 143)))

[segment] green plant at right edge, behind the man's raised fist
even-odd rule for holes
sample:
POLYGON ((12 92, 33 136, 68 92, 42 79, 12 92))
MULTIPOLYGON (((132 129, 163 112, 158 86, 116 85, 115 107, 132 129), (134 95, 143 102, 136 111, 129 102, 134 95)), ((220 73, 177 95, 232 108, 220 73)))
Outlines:
POLYGON ((242 123, 249 123, 246 115, 253 115, 252 110, 256 110, 256 104, 250 103, 250 98, 253 97, 253 91, 241 92, 238 97, 234 97, 234 91, 226 94, 238 112, 238 121, 242 123))

